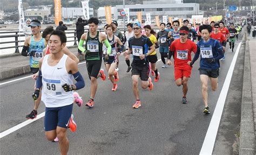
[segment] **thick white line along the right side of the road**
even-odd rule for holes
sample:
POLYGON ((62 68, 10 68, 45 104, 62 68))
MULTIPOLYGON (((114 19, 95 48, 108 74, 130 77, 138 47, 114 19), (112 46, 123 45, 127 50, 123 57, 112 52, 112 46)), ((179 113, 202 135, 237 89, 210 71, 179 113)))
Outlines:
POLYGON ((214 113, 212 115, 210 125, 208 126, 208 130, 206 132, 203 146, 201 147, 201 151, 199 153, 200 155, 212 154, 215 139, 216 139, 219 124, 220 124, 220 118, 221 118, 224 104, 226 101, 227 91, 228 91, 228 88, 230 87, 230 82, 231 82, 232 74, 234 71, 235 62, 237 61, 240 46, 241 46, 241 43, 239 43, 237 51, 235 51, 233 60, 231 62, 230 69, 228 69, 227 76, 224 81, 223 87, 221 89, 220 96, 218 98, 214 113))

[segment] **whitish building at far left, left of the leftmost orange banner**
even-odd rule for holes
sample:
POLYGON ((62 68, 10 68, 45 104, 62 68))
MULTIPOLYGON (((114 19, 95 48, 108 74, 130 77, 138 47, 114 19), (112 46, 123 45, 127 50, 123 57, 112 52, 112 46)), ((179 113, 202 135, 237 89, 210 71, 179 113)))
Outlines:
POLYGON ((41 5, 41 6, 37 6, 33 9, 28 9, 24 11, 24 16, 25 18, 38 18, 42 17, 44 18, 45 16, 48 17, 49 15, 51 15, 51 8, 48 8, 47 6, 41 5))

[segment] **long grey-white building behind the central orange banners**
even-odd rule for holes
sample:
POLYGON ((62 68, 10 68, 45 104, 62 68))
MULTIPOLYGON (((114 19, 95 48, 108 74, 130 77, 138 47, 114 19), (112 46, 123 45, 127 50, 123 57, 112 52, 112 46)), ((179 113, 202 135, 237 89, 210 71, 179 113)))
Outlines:
MULTIPOLYGON (((123 19, 120 15, 123 5, 112 6, 112 8, 113 18, 123 19)), ((136 19, 139 11, 142 11, 143 19, 146 19, 146 13, 151 13, 151 19, 155 16, 159 16, 160 19, 162 16, 191 18, 192 15, 199 14, 199 4, 183 3, 183 0, 149 0, 143 1, 143 4, 125 5, 125 8, 130 10, 130 19, 136 19)), ((98 10, 98 17, 104 16, 105 12, 98 10)))

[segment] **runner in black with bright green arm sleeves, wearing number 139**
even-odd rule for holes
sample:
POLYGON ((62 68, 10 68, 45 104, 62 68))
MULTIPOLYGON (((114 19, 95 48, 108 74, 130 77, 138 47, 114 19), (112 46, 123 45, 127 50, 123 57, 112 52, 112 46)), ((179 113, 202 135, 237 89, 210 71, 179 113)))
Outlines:
POLYGON ((85 104, 87 107, 92 108, 94 106, 94 97, 97 91, 97 78, 106 80, 104 69, 100 69, 102 66, 102 44, 107 47, 107 55, 111 52, 111 46, 104 33, 97 31, 99 24, 98 18, 92 17, 88 20, 89 32, 84 33, 80 39, 78 48, 85 53, 86 68, 91 80, 91 96, 89 101, 85 104), (83 47, 85 41, 85 48, 83 47))

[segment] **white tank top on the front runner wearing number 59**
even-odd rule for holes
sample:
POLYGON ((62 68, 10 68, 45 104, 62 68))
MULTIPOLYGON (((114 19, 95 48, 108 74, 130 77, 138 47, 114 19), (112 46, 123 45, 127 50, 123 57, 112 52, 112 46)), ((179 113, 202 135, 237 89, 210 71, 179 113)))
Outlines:
POLYGON ((66 71, 66 59, 68 55, 64 54, 56 66, 48 65, 49 55, 45 55, 41 67, 42 72, 42 101, 45 107, 63 107, 73 103, 73 92, 66 92, 62 85, 72 84, 73 75, 66 71))

